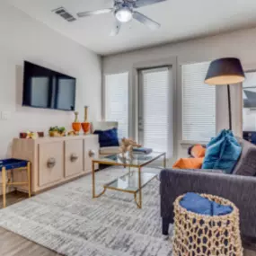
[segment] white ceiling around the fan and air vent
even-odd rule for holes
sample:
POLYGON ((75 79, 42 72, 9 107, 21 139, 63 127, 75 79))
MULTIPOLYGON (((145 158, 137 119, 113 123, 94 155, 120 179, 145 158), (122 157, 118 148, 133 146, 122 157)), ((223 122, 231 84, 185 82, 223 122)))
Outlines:
POLYGON ((255 0, 167 0, 139 9, 162 24, 158 31, 132 21, 124 24, 116 37, 110 37, 114 22, 111 14, 66 22, 51 12, 63 6, 75 15, 112 7, 113 0, 5 1, 101 55, 256 26, 255 0))

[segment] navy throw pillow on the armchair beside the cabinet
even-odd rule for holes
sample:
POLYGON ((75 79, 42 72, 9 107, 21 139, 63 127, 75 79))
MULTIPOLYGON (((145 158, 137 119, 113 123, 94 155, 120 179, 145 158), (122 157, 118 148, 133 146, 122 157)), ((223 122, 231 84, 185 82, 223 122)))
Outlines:
POLYGON ((101 147, 119 146, 117 128, 111 128, 107 130, 95 130, 93 134, 99 135, 99 143, 101 147))

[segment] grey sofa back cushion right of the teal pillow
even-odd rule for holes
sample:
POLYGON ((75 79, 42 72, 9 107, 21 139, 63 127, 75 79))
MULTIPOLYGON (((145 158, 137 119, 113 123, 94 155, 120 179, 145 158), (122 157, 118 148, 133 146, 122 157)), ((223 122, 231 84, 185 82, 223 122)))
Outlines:
POLYGON ((239 138, 243 150, 238 163, 234 168, 234 174, 244 176, 255 176, 256 175, 256 146, 252 143, 239 138))

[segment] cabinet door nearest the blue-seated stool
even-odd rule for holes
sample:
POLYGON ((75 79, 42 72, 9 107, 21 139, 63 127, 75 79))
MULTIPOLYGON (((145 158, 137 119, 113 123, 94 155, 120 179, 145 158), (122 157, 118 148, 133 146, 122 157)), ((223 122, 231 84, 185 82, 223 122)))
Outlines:
POLYGON ((39 186, 64 178, 64 143, 50 142, 39 145, 39 186))

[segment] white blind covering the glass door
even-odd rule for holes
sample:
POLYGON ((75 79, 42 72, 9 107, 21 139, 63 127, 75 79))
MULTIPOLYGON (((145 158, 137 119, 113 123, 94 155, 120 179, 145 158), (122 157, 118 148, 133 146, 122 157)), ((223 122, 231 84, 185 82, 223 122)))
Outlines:
POLYGON ((170 155, 170 75, 171 68, 161 67, 141 72, 139 138, 143 146, 170 155))

